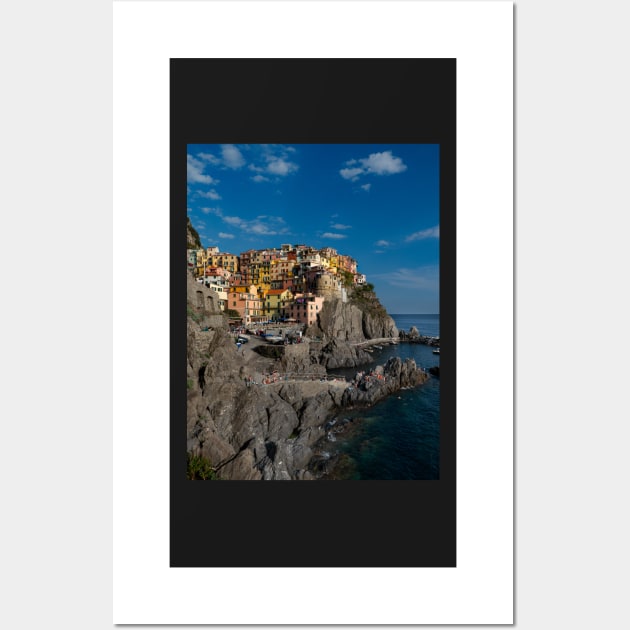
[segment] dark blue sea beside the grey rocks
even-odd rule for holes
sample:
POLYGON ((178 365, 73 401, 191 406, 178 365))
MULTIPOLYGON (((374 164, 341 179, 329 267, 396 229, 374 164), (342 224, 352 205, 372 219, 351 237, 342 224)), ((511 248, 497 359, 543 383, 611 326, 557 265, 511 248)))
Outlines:
MULTIPOLYGON (((415 326, 421 335, 440 336, 439 315, 393 315, 398 330, 415 326)), ((430 368, 440 356, 423 344, 399 343, 374 350, 365 368, 384 364, 392 356, 430 368)), ((353 377, 360 368, 330 370, 353 377)), ((416 388, 389 396, 373 407, 339 416, 348 427, 329 433, 320 452, 330 458, 329 479, 439 479, 440 476, 440 379, 431 376, 416 388)))

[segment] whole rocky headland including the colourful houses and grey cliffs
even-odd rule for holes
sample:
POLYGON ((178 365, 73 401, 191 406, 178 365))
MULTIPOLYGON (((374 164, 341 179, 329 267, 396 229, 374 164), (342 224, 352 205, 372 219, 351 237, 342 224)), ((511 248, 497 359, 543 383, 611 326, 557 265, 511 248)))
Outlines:
POLYGON ((189 479, 332 474, 336 460, 322 453, 331 431, 352 429, 335 420, 342 410, 371 406, 430 378, 413 359, 398 356, 350 380, 329 372, 367 366, 371 346, 400 339, 350 256, 290 244, 221 252, 201 247, 189 221, 187 258, 189 479), (288 325, 274 326, 283 334, 272 341, 269 326, 251 330, 265 321, 288 325), (213 476, 198 476, 199 462, 213 476))

